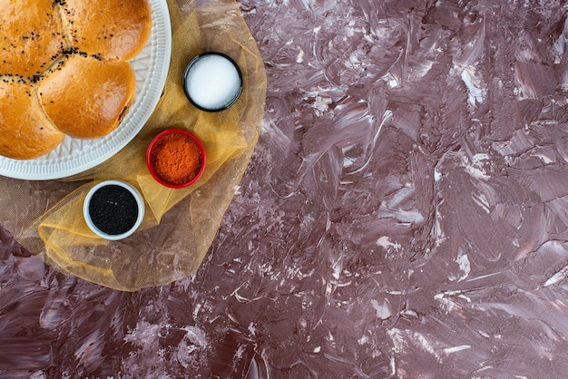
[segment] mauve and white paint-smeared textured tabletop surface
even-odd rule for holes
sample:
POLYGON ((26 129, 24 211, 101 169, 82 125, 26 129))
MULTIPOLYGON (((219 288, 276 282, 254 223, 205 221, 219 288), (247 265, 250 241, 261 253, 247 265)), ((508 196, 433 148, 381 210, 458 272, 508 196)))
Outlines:
POLYGON ((267 112, 201 269, 121 293, 2 232, 0 376, 568 372, 568 6, 240 6, 267 112))

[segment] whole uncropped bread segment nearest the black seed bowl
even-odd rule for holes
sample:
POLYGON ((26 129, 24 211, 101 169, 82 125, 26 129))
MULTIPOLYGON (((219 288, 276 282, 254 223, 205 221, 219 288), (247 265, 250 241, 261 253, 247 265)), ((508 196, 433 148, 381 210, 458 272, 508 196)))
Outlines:
POLYGON ((47 117, 74 138, 99 138, 113 131, 136 91, 132 65, 84 54, 64 57, 37 85, 47 117))

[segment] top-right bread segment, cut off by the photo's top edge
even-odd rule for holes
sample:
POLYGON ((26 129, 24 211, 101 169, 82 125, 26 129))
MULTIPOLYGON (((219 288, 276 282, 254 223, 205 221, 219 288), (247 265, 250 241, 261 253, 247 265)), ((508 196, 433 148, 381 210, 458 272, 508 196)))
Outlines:
POLYGON ((96 5, 65 0, 62 8, 73 45, 106 59, 132 59, 142 51, 152 30, 148 0, 106 0, 96 5))

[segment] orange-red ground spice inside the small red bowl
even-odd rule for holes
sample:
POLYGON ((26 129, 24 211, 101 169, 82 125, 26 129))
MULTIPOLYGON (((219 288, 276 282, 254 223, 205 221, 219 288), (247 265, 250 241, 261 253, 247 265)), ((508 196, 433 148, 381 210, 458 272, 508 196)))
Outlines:
POLYGON ((199 144, 190 136, 179 132, 166 134, 157 141, 151 159, 156 173, 172 184, 193 180, 203 164, 199 144))

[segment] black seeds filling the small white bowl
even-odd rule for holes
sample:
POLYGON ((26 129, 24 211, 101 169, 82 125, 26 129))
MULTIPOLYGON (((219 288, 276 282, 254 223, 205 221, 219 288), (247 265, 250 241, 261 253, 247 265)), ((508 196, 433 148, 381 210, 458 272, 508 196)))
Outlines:
POLYGON ((89 202, 93 224, 106 234, 126 233, 138 219, 138 204, 129 190, 115 184, 103 186, 89 202))

